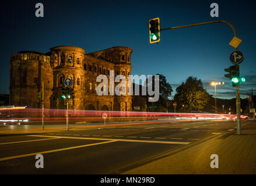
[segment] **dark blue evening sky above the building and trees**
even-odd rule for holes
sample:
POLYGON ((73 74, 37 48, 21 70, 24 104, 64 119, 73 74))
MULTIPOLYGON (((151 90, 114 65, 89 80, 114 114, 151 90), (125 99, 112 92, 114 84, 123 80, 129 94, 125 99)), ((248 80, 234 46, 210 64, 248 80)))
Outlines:
POLYGON ((233 24, 244 53, 240 74, 241 98, 256 90, 255 1, 27 1, 1 0, 1 88, 9 94, 9 55, 32 50, 48 52, 58 45, 73 45, 86 53, 114 46, 131 47, 132 74, 163 74, 175 89, 188 76, 202 80, 214 95, 211 81, 225 81, 217 87, 218 98, 234 98, 235 88, 224 77, 232 65, 232 28, 224 23, 178 28, 161 32, 159 44, 149 44, 149 19, 160 17, 160 27, 226 20, 233 24), (35 5, 44 5, 44 17, 35 16, 35 5), (218 3, 219 17, 211 17, 211 3, 218 3))

